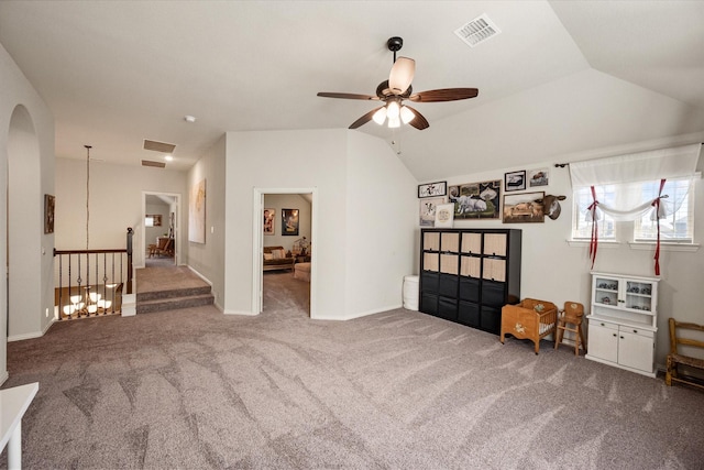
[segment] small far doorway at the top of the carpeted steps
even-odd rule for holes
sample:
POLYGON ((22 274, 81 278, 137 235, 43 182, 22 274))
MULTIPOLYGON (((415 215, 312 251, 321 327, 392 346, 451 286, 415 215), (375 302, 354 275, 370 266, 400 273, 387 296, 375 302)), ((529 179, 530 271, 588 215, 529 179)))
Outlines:
POLYGON ((144 267, 175 267, 180 260, 180 195, 144 192, 142 256, 144 267))

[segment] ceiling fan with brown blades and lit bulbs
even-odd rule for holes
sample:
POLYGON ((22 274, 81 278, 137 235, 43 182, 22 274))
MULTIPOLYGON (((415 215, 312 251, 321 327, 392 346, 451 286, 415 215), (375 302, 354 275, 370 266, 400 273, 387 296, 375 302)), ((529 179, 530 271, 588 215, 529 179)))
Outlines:
POLYGON ((328 91, 320 91, 318 94, 318 96, 324 98, 362 99, 384 102, 384 106, 371 110, 354 121, 350 125, 350 129, 356 129, 374 120, 374 122, 380 125, 383 124, 384 121, 388 121, 389 128, 398 128, 403 122, 418 130, 424 130, 430 125, 428 120, 418 112, 418 110, 408 105, 404 105, 404 100, 414 102, 457 101, 474 98, 479 95, 476 88, 443 88, 414 94, 410 83, 416 73, 416 61, 408 57, 398 57, 398 59, 396 59, 396 52, 400 51, 403 45, 404 40, 398 36, 391 37, 386 42, 388 50, 394 53, 394 65, 388 80, 382 81, 378 87, 376 87, 376 96, 328 91))

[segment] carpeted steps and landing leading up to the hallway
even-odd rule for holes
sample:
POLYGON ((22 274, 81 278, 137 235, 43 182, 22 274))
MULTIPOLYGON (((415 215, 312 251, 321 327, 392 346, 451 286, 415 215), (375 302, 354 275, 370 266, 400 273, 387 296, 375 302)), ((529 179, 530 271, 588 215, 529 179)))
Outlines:
POLYGON ((136 314, 212 305, 210 285, 187 267, 147 267, 136 272, 136 314))

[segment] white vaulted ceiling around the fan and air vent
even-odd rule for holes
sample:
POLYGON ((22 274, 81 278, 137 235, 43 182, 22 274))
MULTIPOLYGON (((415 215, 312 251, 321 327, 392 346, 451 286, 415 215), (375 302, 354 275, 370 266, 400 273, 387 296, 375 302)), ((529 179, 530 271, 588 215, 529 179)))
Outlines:
POLYGON ((704 1, 1 1, 0 43, 56 119, 56 155, 186 170, 226 131, 346 128, 374 107, 386 40, 416 59, 430 121, 370 122, 419 181, 704 140, 704 1), (454 30, 503 31, 475 48, 454 30), (195 123, 184 120, 197 118, 195 123), (675 138, 676 136, 676 138, 675 138))

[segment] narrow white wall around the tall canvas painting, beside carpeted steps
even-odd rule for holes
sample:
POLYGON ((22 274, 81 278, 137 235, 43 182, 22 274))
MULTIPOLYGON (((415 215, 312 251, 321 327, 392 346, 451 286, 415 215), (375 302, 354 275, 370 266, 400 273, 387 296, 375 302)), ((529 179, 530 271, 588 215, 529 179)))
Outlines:
POLYGON ((224 208, 226 208, 226 136, 216 142, 188 172, 188 188, 182 198, 184 217, 180 237, 188 245, 188 265, 208 280, 215 303, 224 308, 224 208), (206 181, 206 242, 188 240, 188 207, 190 187, 206 181))

